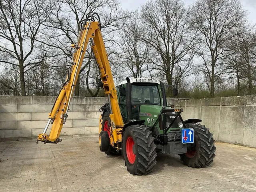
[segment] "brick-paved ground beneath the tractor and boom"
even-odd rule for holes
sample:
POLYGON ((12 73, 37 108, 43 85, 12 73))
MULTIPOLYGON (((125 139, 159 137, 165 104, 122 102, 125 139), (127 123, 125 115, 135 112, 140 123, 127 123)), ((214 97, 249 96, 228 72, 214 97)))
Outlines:
POLYGON ((254 148, 216 143, 214 163, 202 169, 184 166, 177 155, 158 155, 152 173, 132 176, 122 156, 106 156, 97 140, 0 142, 0 191, 256 191, 254 148))

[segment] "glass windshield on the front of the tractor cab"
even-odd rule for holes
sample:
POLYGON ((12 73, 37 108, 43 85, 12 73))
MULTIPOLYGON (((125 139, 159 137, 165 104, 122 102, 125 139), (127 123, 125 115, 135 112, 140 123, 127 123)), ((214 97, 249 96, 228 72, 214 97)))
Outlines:
POLYGON ((132 85, 132 105, 161 105, 157 85, 139 86, 132 85))

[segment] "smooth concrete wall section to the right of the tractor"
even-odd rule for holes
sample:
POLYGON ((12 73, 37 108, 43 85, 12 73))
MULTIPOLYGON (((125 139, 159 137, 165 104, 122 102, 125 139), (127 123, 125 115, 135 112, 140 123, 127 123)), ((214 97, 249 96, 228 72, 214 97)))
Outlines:
POLYGON ((205 99, 168 99, 182 105, 182 118, 202 119, 217 141, 256 147, 256 95, 205 99))

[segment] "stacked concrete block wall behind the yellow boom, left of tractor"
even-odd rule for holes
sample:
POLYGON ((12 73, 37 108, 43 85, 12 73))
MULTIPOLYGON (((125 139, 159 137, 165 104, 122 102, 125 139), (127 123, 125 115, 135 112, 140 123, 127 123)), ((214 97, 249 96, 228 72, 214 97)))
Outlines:
MULTIPOLYGON (((0 138, 38 136, 46 126, 55 99, 55 96, 0 96, 0 138)), ((61 135, 98 133, 99 108, 106 102, 104 97, 73 97, 61 135)))

